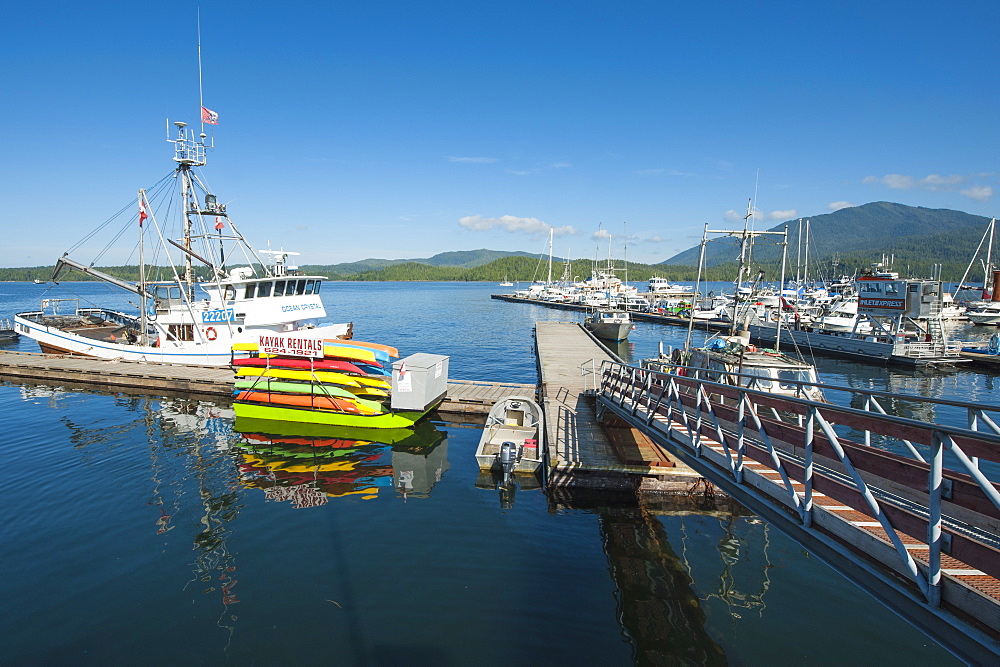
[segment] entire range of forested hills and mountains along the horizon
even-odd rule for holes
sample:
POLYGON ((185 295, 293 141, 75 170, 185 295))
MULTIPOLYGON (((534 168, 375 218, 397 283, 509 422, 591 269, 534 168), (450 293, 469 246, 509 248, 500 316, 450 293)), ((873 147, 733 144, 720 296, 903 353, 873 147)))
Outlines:
MULTIPOLYGON (((808 252, 809 275, 829 276, 837 273, 854 273, 883 255, 894 260, 893 270, 903 276, 929 277, 940 273, 944 280, 959 280, 969 266, 976 248, 983 238, 989 219, 949 209, 930 209, 905 206, 891 202, 873 202, 853 206, 834 213, 803 216, 802 230, 805 237, 809 220, 808 252)), ((795 275, 796 255, 804 256, 806 244, 799 244, 799 220, 788 220, 768 231, 788 228, 786 276, 795 275)), ((742 231, 742 224, 733 225, 733 231, 742 231)), ((732 280, 735 264, 739 259, 737 238, 712 235, 705 248, 706 273, 709 280, 732 280)), ((753 262, 765 271, 767 280, 777 280, 780 275, 781 248, 775 237, 760 237, 754 245, 753 262)), ((697 275, 700 246, 678 253, 659 264, 629 263, 628 278, 632 281, 648 280, 657 275, 668 280, 694 280, 697 275)), ((1000 255, 1000 248, 997 250, 1000 255)), ((457 281, 512 281, 530 282, 547 277, 547 256, 523 251, 462 250, 442 252, 427 258, 416 259, 363 259, 342 264, 305 264, 299 269, 306 274, 325 275, 335 280, 457 280, 457 281)), ((553 257, 553 277, 563 274, 564 260, 553 257)), ((624 268, 624 263, 615 261, 624 268)), ((593 260, 573 260, 569 275, 585 278, 590 275, 593 260)), ((108 268, 110 267, 99 267, 108 268)), ((128 280, 138 278, 137 267, 118 267, 111 271, 128 280), (132 276, 132 277, 128 277, 132 276)), ((52 267, 25 267, 0 269, 0 280, 48 280, 52 267)), ((625 277, 625 272, 622 272, 625 277)), ((75 280, 87 279, 74 276, 75 280)), ((983 269, 977 263, 969 280, 983 280, 983 269)))

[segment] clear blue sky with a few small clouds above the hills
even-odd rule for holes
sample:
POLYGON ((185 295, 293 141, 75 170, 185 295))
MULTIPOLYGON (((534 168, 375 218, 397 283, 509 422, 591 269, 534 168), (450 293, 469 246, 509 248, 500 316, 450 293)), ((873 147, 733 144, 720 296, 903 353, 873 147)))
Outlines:
POLYGON ((209 184, 301 263, 655 263, 871 201, 997 212, 1000 3, 7 3, 0 266, 54 262, 218 112, 209 184), (627 227, 623 225, 627 223, 627 227), (601 256, 607 253, 602 246, 601 256))

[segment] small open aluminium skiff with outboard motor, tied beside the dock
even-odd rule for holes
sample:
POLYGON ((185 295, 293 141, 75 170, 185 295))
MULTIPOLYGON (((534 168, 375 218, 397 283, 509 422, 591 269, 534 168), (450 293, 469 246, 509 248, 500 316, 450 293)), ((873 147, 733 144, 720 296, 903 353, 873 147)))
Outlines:
POLYGON ((476 448, 480 470, 509 476, 542 467, 545 416, 530 398, 508 396, 493 404, 476 448))

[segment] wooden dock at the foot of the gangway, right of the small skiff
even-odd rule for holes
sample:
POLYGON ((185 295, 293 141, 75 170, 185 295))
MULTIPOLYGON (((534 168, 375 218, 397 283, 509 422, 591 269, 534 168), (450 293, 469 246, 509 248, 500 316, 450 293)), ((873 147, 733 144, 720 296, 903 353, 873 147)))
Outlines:
POLYGON ((690 487, 701 479, 683 464, 670 465, 675 462, 665 452, 637 441, 631 432, 612 431, 614 437, 608 437, 598 423, 593 394, 600 385, 601 364, 618 359, 580 324, 536 322, 535 347, 550 486, 635 489, 652 477, 650 481, 680 481, 690 487), (616 449, 629 463, 622 462, 616 449))

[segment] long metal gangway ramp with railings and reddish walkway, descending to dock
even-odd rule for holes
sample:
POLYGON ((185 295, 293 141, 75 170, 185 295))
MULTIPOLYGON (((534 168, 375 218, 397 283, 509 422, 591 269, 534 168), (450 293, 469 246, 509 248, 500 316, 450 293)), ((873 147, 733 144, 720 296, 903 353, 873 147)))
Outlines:
POLYGON ((1000 485, 982 469, 1000 471, 1000 406, 903 397, 964 411, 957 427, 886 414, 898 394, 821 385, 820 403, 707 373, 605 362, 599 417, 642 429, 956 655, 996 664, 1000 485))

